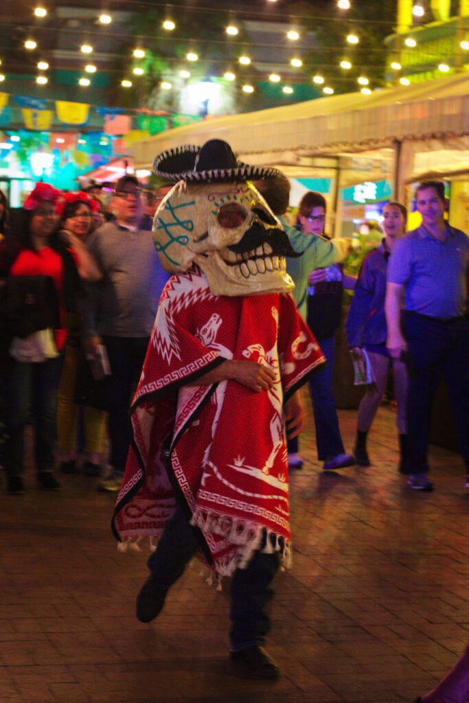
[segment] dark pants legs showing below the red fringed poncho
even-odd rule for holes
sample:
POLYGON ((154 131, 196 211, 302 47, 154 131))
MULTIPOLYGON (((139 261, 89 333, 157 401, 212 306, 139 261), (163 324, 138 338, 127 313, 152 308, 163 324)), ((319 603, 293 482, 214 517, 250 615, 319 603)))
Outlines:
MULTIPOLYGON (((186 564, 198 550, 196 531, 184 512, 177 508, 167 523, 158 547, 148 560, 148 567, 158 588, 166 590, 183 574, 186 564)), ((263 645, 270 629, 266 613, 274 590, 271 582, 278 571, 278 552, 255 552, 245 569, 236 569, 231 580, 231 630, 233 650, 263 645)))

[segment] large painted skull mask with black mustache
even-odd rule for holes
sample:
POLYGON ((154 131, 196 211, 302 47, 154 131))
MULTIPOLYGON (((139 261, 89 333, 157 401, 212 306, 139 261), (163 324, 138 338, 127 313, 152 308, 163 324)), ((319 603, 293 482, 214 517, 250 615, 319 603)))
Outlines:
POLYGON ((214 295, 261 295, 295 287, 281 224, 250 183, 179 183, 155 212, 153 239, 165 271, 203 270, 214 295))

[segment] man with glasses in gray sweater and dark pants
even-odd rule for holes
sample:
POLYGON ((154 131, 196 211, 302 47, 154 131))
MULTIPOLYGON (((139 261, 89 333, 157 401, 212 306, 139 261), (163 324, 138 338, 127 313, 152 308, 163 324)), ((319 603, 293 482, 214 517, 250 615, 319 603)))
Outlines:
POLYGON ((111 201, 115 218, 96 229, 86 246, 101 270, 90 291, 86 348, 103 343, 111 376, 108 433, 112 472, 101 491, 118 491, 129 451, 129 404, 146 356, 167 273, 162 270, 150 231, 139 229, 141 188, 129 174, 117 181, 111 201))

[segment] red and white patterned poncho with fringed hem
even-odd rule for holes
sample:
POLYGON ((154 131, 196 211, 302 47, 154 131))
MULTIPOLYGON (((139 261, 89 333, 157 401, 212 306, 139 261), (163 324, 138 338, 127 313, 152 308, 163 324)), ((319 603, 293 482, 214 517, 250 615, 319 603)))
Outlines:
POLYGON ((160 535, 177 499, 219 574, 245 566, 265 532, 266 550, 281 551, 288 564, 283 402, 323 362, 290 295, 214 296, 196 267, 173 276, 132 406, 117 536, 160 535), (262 362, 276 382, 261 393, 233 380, 185 385, 225 359, 262 362))

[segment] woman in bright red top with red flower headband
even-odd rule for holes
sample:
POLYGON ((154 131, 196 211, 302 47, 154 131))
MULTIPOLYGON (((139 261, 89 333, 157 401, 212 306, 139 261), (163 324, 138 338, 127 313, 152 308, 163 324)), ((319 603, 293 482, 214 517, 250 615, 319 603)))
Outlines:
MULTIPOLYGON (((20 212, 20 231, 0 242, 0 277, 5 279, 2 292, 10 292, 8 302, 13 313, 18 313, 18 302, 23 306, 19 315, 8 318, 12 327, 8 332, 13 340, 3 368, 7 434, 4 466, 7 488, 12 494, 24 493, 24 434, 30 413, 35 425, 34 459, 39 487, 47 491, 60 487, 53 475, 57 389, 68 317, 77 311, 83 290, 75 258, 54 231, 58 198, 60 191, 56 188, 37 183, 20 212), (39 320, 41 317, 44 319, 39 320), (42 334, 47 333, 42 327, 45 319, 53 321, 45 325, 53 327, 53 337, 46 334, 44 338, 42 334)), ((79 260, 79 251, 78 246, 75 257, 84 270, 86 264, 79 260)), ((6 314, 5 307, 2 313, 6 314)))

